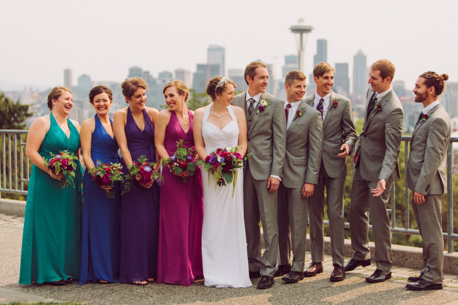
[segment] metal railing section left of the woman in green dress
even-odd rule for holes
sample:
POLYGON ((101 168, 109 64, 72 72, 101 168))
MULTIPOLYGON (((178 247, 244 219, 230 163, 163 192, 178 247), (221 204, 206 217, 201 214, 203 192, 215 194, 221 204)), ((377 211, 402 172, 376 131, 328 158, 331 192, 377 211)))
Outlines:
POLYGON ((27 194, 31 162, 25 157, 27 130, 0 130, 0 198, 1 193, 27 194))

